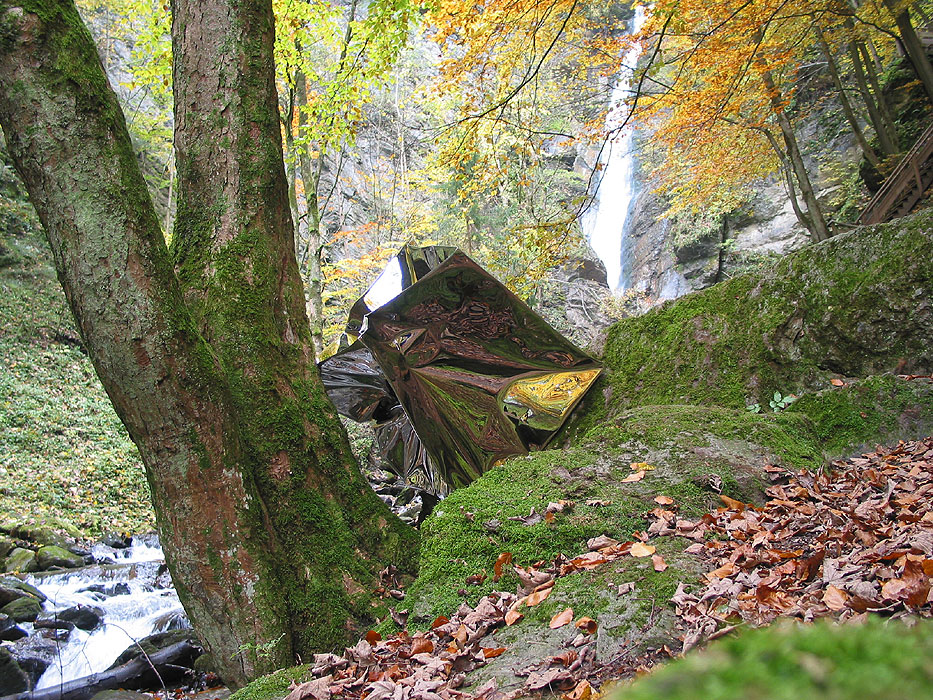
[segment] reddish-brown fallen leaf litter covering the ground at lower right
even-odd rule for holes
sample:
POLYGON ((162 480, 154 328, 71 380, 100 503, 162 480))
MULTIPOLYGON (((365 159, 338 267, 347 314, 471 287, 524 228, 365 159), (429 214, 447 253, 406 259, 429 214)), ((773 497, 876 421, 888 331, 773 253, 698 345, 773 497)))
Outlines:
MULTIPOLYGON (((636 473, 647 471, 640 463, 632 466, 642 467, 636 473)), ((596 697, 600 679, 646 670, 673 652, 665 646, 624 666, 602 664, 594 647, 598 622, 583 616, 573 624, 579 634, 565 642, 567 651, 513 669, 525 678, 523 686, 500 692, 493 678, 471 692, 462 688, 471 671, 508 651, 487 636, 518 624, 521 609, 543 602, 556 579, 622 557, 650 557, 654 570, 664 571, 667 563, 647 544, 651 537, 693 540, 686 552, 706 563, 700 585, 688 590, 681 582, 671 599, 684 629, 683 652, 778 616, 933 616, 933 438, 836 461, 825 473, 772 465, 765 471, 771 500, 760 508, 721 496, 724 505, 715 513, 686 520, 673 499, 659 496, 647 532, 633 535, 637 541, 603 535, 590 539, 584 554, 530 567, 503 552, 495 580, 511 565, 520 581, 517 592, 493 591, 475 607, 464 603, 424 632, 403 629, 389 639, 371 632, 342 655, 316 654, 312 679, 293 685, 286 700, 513 700, 545 691, 560 692, 564 700, 596 697)), ((563 505, 550 504, 549 512, 563 505)), ((530 516, 516 519, 529 524, 542 517, 534 511, 530 516)), ((618 587, 620 595, 633 590, 633 582, 618 587)), ((393 618, 407 620, 407 611, 393 611, 393 618)), ((566 608, 549 626, 559 629, 573 620, 566 608)))

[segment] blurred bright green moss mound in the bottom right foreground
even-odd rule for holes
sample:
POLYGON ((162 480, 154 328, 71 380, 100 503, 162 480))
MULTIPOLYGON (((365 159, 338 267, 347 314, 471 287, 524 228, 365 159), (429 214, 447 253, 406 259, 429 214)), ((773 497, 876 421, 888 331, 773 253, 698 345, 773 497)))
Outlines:
POLYGON ((711 644, 613 700, 933 698, 933 625, 778 624, 711 644))

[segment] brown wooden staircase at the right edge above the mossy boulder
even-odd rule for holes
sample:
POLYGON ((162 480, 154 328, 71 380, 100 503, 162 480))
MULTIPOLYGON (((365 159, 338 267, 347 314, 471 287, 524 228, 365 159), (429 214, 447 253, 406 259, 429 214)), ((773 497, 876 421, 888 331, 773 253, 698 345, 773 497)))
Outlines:
POLYGON ((933 185, 933 123, 884 181, 859 221, 880 224, 909 214, 930 185, 933 185))

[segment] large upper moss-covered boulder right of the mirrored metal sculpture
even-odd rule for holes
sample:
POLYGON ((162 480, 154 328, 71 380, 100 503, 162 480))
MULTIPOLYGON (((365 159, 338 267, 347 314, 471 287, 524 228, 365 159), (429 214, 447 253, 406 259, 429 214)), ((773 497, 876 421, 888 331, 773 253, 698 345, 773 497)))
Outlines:
MULTIPOLYGON (((602 413, 765 407, 834 377, 933 369, 933 211, 807 246, 609 331, 602 413)), ((596 419, 591 416, 590 420, 596 419)))

